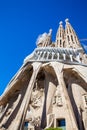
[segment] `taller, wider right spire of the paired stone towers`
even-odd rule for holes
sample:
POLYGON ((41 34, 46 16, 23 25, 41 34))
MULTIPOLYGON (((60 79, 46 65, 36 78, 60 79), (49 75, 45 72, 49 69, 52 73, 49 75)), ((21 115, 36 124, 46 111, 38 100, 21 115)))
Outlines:
POLYGON ((71 48, 79 48, 80 42, 78 40, 78 37, 72 28, 71 24, 69 23, 69 19, 65 20, 66 26, 65 26, 65 46, 71 47, 71 48))

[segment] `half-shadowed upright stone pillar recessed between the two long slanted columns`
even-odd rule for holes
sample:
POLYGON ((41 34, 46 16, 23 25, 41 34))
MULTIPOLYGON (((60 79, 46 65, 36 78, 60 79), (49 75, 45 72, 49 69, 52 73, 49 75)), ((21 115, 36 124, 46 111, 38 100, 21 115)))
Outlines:
POLYGON ((52 114, 52 99, 56 91, 55 77, 45 71, 45 99, 41 119, 41 128, 49 126, 47 122, 47 115, 52 114))

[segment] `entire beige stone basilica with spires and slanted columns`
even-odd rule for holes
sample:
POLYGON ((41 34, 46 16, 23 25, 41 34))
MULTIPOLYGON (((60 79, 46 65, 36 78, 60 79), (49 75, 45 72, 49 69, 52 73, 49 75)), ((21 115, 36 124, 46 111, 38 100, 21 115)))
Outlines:
POLYGON ((40 35, 0 97, 0 130, 87 130, 87 55, 69 23, 40 35))

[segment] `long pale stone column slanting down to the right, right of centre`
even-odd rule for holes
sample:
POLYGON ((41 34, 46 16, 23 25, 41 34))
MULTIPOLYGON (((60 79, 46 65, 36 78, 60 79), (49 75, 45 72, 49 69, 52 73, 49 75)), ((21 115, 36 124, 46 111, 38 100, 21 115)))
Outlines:
POLYGON ((68 117, 68 125, 66 124, 67 130, 78 130, 75 115, 72 109, 72 105, 68 96, 68 92, 66 90, 66 85, 63 78, 63 64, 59 64, 57 62, 52 62, 51 66, 54 68, 55 73, 57 75, 57 79, 59 82, 59 85, 62 87, 65 100, 66 100, 66 108, 67 108, 67 117, 68 117), (59 66, 59 67, 58 67, 59 66))

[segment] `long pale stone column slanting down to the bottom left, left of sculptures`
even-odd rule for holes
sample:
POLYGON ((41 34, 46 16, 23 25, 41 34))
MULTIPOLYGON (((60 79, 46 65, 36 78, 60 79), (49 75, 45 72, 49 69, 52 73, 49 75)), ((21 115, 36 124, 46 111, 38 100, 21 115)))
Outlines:
POLYGON ((33 74, 32 74, 31 80, 27 87, 25 96, 24 96, 21 106, 18 110, 18 113, 17 113, 14 121, 11 123, 10 127, 8 128, 8 130, 22 130, 23 129, 26 112, 27 112, 29 102, 30 102, 31 92, 32 92, 32 89, 33 89, 35 81, 36 81, 36 76, 41 67, 41 63, 33 63, 32 65, 33 65, 33 74))

